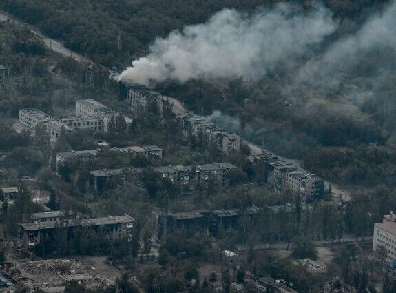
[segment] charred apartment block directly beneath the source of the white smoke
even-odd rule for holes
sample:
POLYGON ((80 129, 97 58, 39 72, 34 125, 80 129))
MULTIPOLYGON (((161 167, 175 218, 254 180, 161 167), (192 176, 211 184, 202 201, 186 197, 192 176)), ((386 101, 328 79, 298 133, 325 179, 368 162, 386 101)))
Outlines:
POLYGON ((162 95, 159 92, 150 90, 144 85, 127 85, 128 88, 128 101, 134 114, 144 112, 147 110, 149 103, 155 103, 159 110, 162 105, 162 95))

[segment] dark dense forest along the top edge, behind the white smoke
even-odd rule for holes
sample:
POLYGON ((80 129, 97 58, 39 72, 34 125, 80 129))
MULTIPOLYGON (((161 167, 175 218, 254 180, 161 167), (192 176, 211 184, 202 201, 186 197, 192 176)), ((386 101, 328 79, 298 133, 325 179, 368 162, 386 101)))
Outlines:
MULTIPOLYGON (((362 21, 367 10, 387 0, 326 0, 335 17, 362 21)), ((224 8, 252 11, 278 0, 216 1, 108 1, 108 0, 4 0, 0 8, 37 26, 49 37, 64 41, 72 50, 103 65, 129 65, 156 37, 171 30, 207 21, 224 8)), ((315 1, 295 1, 311 6, 315 1)))

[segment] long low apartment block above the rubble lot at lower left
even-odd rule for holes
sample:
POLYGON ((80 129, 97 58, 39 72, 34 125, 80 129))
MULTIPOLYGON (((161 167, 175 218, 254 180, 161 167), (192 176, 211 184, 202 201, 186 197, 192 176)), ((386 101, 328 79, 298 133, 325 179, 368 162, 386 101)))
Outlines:
POLYGON ((50 239, 56 229, 67 230, 68 239, 72 239, 76 228, 92 228, 94 232, 103 231, 108 239, 124 239, 131 234, 135 219, 132 216, 107 216, 95 219, 63 219, 32 223, 18 223, 19 247, 32 249, 43 239, 50 239))

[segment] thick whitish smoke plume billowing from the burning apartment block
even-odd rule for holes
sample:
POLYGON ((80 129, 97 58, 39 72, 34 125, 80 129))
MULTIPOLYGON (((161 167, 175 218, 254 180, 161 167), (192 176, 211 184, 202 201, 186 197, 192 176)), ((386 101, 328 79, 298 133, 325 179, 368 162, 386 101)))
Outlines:
POLYGON ((134 61, 118 79, 150 85, 167 79, 229 79, 240 74, 260 78, 280 61, 304 54, 334 32, 337 24, 331 16, 323 7, 300 12, 286 4, 256 14, 222 10, 207 23, 156 39, 150 53, 134 61))

